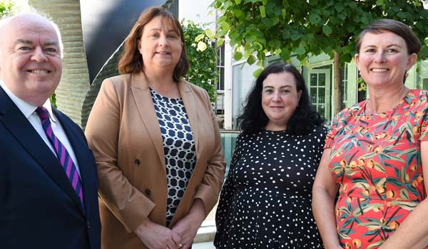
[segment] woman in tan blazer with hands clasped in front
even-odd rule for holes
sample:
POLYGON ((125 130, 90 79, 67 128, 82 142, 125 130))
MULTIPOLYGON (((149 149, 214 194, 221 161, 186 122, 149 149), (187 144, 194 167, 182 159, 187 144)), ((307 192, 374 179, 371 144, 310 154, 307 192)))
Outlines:
POLYGON ((126 38, 86 126, 99 179, 102 248, 190 248, 218 200, 225 161, 207 92, 177 18, 153 7, 126 38))

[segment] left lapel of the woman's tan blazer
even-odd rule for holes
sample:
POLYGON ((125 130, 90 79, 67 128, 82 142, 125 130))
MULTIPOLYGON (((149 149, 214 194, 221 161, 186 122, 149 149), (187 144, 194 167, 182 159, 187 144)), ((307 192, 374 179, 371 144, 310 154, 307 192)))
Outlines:
POLYGON ((146 125, 153 146, 156 148, 159 160, 163 165, 163 171, 165 171, 165 154, 163 152, 162 134, 159 128, 155 107, 153 106, 150 88, 148 88, 146 75, 144 75, 144 73, 133 74, 131 80, 131 92, 136 101, 138 113, 144 125, 146 125))

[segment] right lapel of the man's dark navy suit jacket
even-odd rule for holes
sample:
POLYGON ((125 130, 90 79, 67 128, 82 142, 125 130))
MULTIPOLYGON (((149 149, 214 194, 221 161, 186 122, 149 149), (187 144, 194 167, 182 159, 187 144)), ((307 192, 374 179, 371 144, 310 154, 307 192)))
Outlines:
MULTIPOLYGON (((76 156, 78 170, 81 176, 81 184, 83 188, 83 201, 85 199, 91 199, 93 197, 90 196, 91 192, 89 190, 93 188, 93 186, 90 186, 89 183, 91 179, 88 179, 88 177, 96 177, 96 174, 93 174, 93 172, 91 172, 91 164, 94 165, 94 162, 89 161, 89 159, 91 159, 91 157, 93 156, 91 156, 91 154, 88 154, 88 147, 86 147, 86 141, 83 141, 81 134, 78 134, 78 131, 76 131, 76 129, 73 129, 73 127, 75 126, 77 127, 77 124, 71 123, 72 122, 71 120, 68 120, 66 117, 64 117, 64 115, 61 112, 59 112, 55 108, 52 108, 52 111, 54 112, 55 117, 61 123, 61 127, 66 133, 68 141, 71 144, 71 147, 73 147, 73 152, 74 152, 74 155, 76 156)), ((69 184, 69 182, 70 181, 68 180, 68 185, 70 185, 71 187, 71 184, 69 184)), ((74 191, 72 187, 71 187, 71 191, 73 191, 73 195, 71 196, 73 198, 73 201, 76 202, 76 204, 79 206, 81 211, 83 211, 80 203, 80 199, 78 198, 76 191, 74 191)), ((85 204, 86 204, 86 201, 85 201, 85 204)), ((86 208, 88 208, 88 206, 86 206, 86 208)))

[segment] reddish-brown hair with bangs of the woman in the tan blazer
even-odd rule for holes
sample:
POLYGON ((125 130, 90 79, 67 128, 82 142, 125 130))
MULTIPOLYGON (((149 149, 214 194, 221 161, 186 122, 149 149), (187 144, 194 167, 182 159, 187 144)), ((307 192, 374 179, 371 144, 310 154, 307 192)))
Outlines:
POLYGON ((168 19, 175 28, 175 31, 180 33, 183 49, 181 51, 180 60, 178 60, 173 73, 173 80, 178 82, 184 75, 186 75, 186 73, 188 73, 190 67, 187 53, 185 53, 183 28, 181 28, 180 21, 162 7, 151 7, 141 13, 138 21, 134 24, 128 37, 126 37, 125 49, 123 51, 122 58, 118 63, 119 73, 140 73, 143 70, 143 57, 138 51, 138 41, 141 39, 144 26, 146 26, 146 24, 156 16, 162 16, 163 18, 168 19))

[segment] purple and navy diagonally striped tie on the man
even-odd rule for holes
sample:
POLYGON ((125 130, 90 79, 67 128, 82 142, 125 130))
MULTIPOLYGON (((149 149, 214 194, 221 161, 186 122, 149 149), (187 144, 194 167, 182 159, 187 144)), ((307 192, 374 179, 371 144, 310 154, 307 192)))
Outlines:
POLYGON ((81 200, 81 204, 83 206, 83 191, 81 186, 81 181, 78 176, 76 166, 73 163, 73 159, 71 159, 70 154, 68 154, 66 147, 59 141, 58 137, 55 136, 52 131, 51 120, 49 120, 49 112, 45 107, 37 107, 37 114, 41 119, 41 125, 43 126, 46 137, 48 137, 49 142, 51 142, 52 147, 54 147, 56 156, 59 159, 59 162, 63 166, 64 171, 66 171, 66 175, 68 176, 68 180, 70 180, 71 186, 73 186, 74 191, 81 200))

